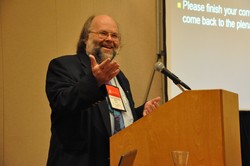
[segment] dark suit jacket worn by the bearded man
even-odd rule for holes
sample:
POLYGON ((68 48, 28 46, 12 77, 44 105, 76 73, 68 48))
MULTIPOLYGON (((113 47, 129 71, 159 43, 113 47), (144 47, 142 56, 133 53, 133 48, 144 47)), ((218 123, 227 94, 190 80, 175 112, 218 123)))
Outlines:
MULTIPOLYGON (((117 75, 137 120, 130 85, 117 75)), ((105 86, 98 87, 86 54, 53 59, 48 67, 46 94, 52 109, 47 166, 108 166, 110 115, 105 86)))

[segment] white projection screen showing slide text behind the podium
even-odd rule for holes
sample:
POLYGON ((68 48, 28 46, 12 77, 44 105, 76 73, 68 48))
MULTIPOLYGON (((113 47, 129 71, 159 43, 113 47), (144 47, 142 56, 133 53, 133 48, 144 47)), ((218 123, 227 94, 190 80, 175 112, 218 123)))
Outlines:
MULTIPOLYGON (((224 89, 250 110, 250 1, 166 1, 167 64, 192 89, 224 89)), ((169 82, 170 99, 181 93, 169 82)))

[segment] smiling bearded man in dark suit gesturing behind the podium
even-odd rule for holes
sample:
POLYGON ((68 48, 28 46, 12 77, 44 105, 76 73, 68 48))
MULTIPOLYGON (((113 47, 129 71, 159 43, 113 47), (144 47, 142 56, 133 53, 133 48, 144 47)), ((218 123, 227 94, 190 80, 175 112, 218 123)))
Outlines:
POLYGON ((158 107, 159 97, 134 108, 129 82, 111 60, 120 40, 111 17, 91 16, 77 54, 50 62, 46 93, 52 135, 47 166, 108 166, 109 137, 158 107))

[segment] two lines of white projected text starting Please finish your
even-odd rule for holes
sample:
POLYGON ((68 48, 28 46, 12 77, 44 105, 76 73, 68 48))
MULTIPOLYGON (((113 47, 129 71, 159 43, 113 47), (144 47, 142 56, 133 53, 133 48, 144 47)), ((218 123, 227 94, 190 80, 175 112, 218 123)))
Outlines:
MULTIPOLYGON (((217 2, 218 3, 218 2, 217 2)), ((205 1, 205 4, 195 3, 191 1, 184 0, 183 2, 178 2, 177 7, 183 10, 189 10, 194 12, 204 12, 213 13, 218 16, 204 17, 204 16, 189 16, 183 15, 182 21, 186 24, 197 24, 204 26, 219 26, 226 28, 236 28, 240 29, 250 29, 250 22, 227 18, 229 16, 239 16, 239 17, 250 17, 250 10, 241 9, 235 7, 226 7, 221 4, 210 4, 205 1), (222 16, 222 18, 221 18, 222 16)))

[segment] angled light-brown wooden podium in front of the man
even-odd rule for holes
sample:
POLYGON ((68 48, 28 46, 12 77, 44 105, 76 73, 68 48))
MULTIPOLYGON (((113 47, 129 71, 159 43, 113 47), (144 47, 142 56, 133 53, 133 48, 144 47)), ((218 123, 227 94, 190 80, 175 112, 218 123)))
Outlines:
POLYGON ((110 138, 111 166, 137 149, 134 166, 172 166, 171 151, 189 151, 189 166, 240 166, 238 95, 186 91, 110 138))

